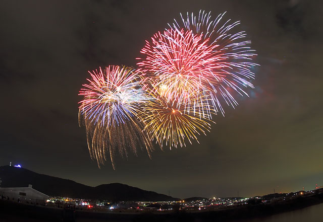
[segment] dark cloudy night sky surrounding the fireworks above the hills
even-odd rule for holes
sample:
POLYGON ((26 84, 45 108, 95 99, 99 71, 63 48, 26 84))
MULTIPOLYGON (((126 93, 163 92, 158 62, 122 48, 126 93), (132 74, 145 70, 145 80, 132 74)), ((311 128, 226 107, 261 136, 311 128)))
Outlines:
POLYGON ((323 185, 320 1, 2 1, 0 166, 86 185, 125 183, 179 198, 253 196, 323 185), (179 13, 240 20, 257 51, 254 90, 185 148, 90 159, 78 91, 99 66, 136 67, 145 40, 179 13))

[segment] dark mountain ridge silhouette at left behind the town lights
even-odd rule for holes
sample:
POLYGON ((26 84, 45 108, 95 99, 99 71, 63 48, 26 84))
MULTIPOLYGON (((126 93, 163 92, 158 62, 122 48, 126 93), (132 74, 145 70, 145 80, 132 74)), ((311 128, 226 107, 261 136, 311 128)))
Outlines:
POLYGON ((122 183, 100 184, 92 187, 70 179, 38 174, 25 168, 12 166, 0 167, 2 187, 28 187, 49 196, 62 196, 83 199, 100 199, 112 201, 176 201, 179 198, 146 191, 122 183))

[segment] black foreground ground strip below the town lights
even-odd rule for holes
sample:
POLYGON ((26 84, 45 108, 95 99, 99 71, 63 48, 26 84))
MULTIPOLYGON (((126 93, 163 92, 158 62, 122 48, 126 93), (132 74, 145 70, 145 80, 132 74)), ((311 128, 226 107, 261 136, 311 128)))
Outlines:
POLYGON ((95 213, 86 211, 63 210, 19 204, 0 200, 0 221, 134 221, 134 222, 164 222, 164 221, 232 221, 245 220, 255 217, 265 217, 273 214, 301 209, 323 202, 323 193, 312 196, 299 196, 291 200, 271 203, 247 204, 222 210, 201 212, 177 211, 173 213, 95 213))

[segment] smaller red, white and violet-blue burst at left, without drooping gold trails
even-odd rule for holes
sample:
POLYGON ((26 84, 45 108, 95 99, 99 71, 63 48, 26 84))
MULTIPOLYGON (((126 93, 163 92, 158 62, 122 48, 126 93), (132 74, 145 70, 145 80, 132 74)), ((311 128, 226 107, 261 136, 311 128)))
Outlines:
POLYGON ((106 68, 106 76, 100 68, 89 72, 92 80, 80 90, 81 111, 85 118, 97 124, 120 124, 135 116, 138 104, 146 102, 145 93, 137 81, 134 70, 119 66, 106 68))

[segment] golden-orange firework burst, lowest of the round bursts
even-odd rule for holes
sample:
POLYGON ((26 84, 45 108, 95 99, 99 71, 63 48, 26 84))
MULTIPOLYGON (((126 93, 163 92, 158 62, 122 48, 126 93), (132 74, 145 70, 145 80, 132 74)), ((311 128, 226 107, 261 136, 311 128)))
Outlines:
MULTIPOLYGON (((150 135, 151 140, 156 139, 161 148, 165 143, 170 149, 178 145, 186 146, 185 139, 190 143, 193 139, 198 142, 197 134, 206 135, 206 131, 209 131, 212 121, 209 116, 204 118, 195 110, 197 101, 193 99, 185 102, 178 99, 170 101, 160 88, 152 87, 148 92, 154 99, 145 104, 140 118, 145 125, 144 132, 150 135)), ((207 103, 203 104, 205 106, 207 103)))

